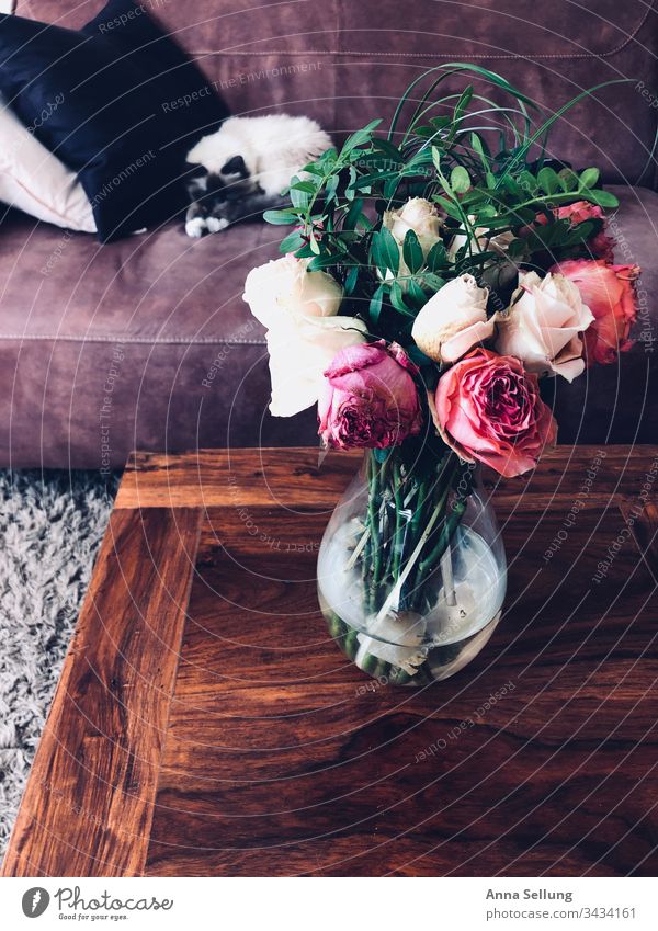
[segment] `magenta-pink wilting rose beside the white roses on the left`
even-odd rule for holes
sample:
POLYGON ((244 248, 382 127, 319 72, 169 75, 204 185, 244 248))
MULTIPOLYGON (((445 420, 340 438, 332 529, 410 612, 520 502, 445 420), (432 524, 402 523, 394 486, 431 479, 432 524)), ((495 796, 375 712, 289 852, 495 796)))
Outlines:
POLYGON ((386 449, 422 425, 418 368, 397 343, 384 340, 338 352, 325 372, 318 433, 337 450, 386 449))

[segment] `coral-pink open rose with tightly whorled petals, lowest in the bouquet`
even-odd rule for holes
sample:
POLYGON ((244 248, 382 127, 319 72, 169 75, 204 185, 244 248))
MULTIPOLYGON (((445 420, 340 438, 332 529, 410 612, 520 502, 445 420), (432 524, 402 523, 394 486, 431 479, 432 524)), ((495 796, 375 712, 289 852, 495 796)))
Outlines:
POLYGON ((479 459, 506 478, 537 464, 557 424, 522 363, 476 349, 439 379, 430 407, 439 432, 466 462, 479 459))

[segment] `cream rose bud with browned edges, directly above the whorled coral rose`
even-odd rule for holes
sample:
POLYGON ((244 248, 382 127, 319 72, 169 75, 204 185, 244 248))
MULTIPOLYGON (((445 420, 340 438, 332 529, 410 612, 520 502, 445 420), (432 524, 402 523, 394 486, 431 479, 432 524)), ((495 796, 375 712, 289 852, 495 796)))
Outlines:
POLYGON ((478 287, 473 275, 460 275, 444 284, 413 322, 411 336, 417 347, 434 362, 456 362, 494 336, 494 319, 487 319, 488 297, 488 288, 478 287))

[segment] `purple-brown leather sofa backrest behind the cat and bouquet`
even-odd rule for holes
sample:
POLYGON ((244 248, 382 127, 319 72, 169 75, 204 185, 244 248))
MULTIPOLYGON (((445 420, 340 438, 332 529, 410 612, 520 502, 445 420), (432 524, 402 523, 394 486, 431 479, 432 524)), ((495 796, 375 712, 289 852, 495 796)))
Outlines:
MULTIPOLYGON (((631 78, 569 111, 549 149, 575 167, 598 164, 609 180, 656 186, 656 2, 144 0, 143 7, 196 58, 234 113, 307 113, 339 138, 390 116, 416 77, 447 61, 500 72, 546 113, 594 84, 631 78)), ((103 5, 18 0, 15 12, 76 27, 103 5)))

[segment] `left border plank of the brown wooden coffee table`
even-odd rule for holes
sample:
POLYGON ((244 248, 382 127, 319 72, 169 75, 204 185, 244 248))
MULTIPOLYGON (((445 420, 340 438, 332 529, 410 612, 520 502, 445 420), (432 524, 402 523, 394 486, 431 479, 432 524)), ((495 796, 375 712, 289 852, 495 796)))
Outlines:
POLYGON ((197 511, 113 511, 3 876, 141 873, 197 540, 197 511))

